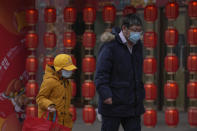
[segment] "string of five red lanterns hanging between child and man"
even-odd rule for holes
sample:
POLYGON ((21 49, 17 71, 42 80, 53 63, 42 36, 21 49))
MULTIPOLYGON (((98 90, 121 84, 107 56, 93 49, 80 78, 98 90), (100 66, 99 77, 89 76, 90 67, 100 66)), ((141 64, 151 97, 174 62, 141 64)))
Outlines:
POLYGON ((96 59, 93 55, 94 46, 96 43, 96 34, 93 26, 96 20, 96 9, 91 5, 86 5, 83 9, 83 20, 86 24, 86 29, 83 34, 82 44, 85 49, 85 56, 82 60, 82 71, 85 80, 82 84, 82 96, 88 101, 83 108, 83 121, 86 124, 93 124, 96 119, 95 108, 90 104, 95 96, 95 85, 93 82, 93 74, 96 69, 96 59))

